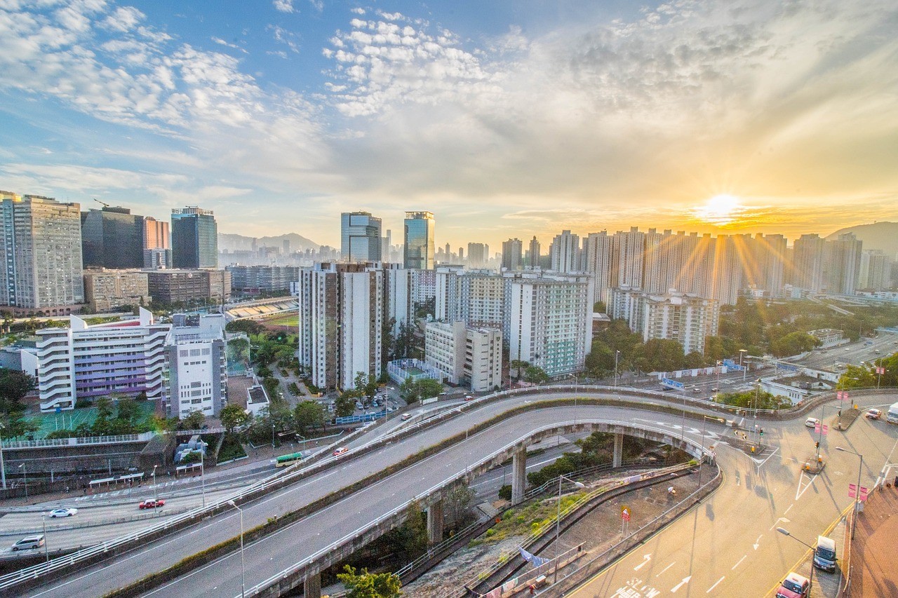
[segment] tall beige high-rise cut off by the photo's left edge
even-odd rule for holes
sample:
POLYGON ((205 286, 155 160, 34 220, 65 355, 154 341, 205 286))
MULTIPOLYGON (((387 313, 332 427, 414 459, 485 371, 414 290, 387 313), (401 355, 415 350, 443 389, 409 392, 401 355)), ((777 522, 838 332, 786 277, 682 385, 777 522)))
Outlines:
POLYGON ((0 191, 0 304, 70 312, 84 302, 81 209, 0 191))

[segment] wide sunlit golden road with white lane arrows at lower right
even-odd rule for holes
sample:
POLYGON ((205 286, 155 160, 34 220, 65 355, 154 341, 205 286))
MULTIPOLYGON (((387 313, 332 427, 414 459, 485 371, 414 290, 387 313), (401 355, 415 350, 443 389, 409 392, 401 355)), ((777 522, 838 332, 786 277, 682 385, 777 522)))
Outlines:
MULTIPOLYGON (((872 400, 866 403, 876 404, 872 400)), ((807 476, 800 463, 814 453, 813 430, 800 418, 762 427, 777 453, 760 464, 762 459, 718 444, 721 488, 568 596, 772 595, 808 551, 776 528, 813 546, 853 502, 848 484, 857 480, 859 460, 835 447, 864 455, 861 485, 866 487, 896 456, 898 427, 858 418, 847 433, 823 436, 826 467, 807 476)))

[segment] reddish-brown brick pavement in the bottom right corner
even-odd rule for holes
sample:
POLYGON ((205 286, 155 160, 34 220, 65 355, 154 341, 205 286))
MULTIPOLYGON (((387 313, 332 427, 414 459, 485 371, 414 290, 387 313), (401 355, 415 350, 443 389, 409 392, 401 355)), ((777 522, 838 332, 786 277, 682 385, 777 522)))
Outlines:
POLYGON ((898 596, 898 488, 885 484, 858 517, 851 555, 849 596, 898 596))

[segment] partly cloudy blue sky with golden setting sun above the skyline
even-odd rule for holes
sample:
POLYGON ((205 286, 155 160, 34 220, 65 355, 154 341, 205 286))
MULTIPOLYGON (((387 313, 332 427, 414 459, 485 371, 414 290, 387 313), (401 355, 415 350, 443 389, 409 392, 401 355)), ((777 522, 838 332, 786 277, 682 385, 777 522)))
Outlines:
POLYGON ((894 0, 0 0, 0 189, 339 245, 898 215, 894 0))

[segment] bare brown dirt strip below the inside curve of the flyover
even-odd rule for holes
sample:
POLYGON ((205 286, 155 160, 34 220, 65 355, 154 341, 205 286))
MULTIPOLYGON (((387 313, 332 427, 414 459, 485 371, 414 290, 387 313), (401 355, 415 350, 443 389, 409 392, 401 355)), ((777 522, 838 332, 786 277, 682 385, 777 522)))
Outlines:
MULTIPOLYGON (((707 475, 707 472, 706 472, 707 475)), ((624 477, 624 476, 621 476, 624 477)), ((599 486, 608 479, 590 482, 589 486, 599 486)), ((621 506, 628 506, 630 511, 629 532, 635 532, 667 508, 674 505, 675 498, 669 496, 667 488, 673 486, 677 497, 685 497, 698 485, 698 475, 691 474, 670 482, 662 481, 649 488, 641 488, 627 492, 600 506, 581 518, 577 524, 559 538, 559 551, 568 550, 583 543, 584 550, 601 552, 621 540, 621 506)), ((545 499, 554 505, 557 497, 545 499)), ((480 536, 480 540, 486 536, 480 536)), ((473 548, 458 550, 446 558, 437 567, 402 590, 406 595, 416 598, 440 598, 457 595, 463 585, 471 585, 480 571, 495 564, 502 554, 510 554, 511 558, 521 558, 518 546, 524 536, 509 537, 506 540, 492 543, 484 542, 473 548)), ((542 554, 537 556, 552 558, 555 555, 554 542, 542 554)))

